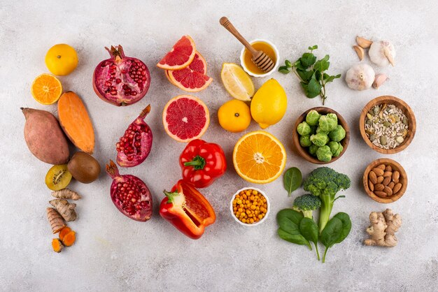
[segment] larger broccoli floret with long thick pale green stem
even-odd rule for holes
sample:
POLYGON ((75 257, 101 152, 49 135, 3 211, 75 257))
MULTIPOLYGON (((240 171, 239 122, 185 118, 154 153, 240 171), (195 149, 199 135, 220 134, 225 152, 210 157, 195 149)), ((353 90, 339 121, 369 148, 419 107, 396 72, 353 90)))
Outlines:
POLYGON ((304 191, 309 191, 313 196, 318 196, 321 200, 319 230, 322 232, 330 219, 334 198, 341 189, 348 189, 351 181, 347 175, 337 173, 332 168, 320 167, 313 170, 303 182, 304 191))

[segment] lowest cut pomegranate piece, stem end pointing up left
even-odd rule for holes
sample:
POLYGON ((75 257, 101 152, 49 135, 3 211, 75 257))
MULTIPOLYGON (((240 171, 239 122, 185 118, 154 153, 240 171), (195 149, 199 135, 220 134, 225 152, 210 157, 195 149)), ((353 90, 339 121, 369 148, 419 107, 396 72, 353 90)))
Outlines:
POLYGON ((120 175, 114 161, 106 164, 111 176, 111 200, 115 207, 136 221, 148 221, 152 216, 152 195, 146 184, 134 175, 120 175))

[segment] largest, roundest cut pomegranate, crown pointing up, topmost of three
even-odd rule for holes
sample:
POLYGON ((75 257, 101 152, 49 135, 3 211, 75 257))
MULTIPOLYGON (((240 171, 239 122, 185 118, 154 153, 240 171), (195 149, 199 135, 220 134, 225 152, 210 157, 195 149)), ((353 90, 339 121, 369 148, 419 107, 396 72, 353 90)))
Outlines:
POLYGON ((148 67, 139 59, 125 57, 121 45, 111 46, 111 49, 106 50, 111 58, 101 61, 94 69, 94 92, 113 105, 136 103, 148 92, 148 67))

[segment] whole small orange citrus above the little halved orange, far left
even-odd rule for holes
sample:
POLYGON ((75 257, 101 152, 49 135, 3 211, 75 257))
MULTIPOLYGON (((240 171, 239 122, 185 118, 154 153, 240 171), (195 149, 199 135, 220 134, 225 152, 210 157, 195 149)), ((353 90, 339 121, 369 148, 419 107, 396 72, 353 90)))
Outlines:
POLYGON ((70 45, 59 43, 45 54, 45 66, 53 75, 69 75, 78 66, 78 54, 70 45))

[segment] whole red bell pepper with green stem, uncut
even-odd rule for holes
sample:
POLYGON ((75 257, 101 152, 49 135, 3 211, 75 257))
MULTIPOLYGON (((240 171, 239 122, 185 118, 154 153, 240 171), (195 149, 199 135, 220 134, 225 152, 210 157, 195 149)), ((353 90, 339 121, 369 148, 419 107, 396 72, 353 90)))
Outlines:
POLYGON ((227 161, 218 144, 204 140, 192 140, 180 156, 183 180, 191 182, 197 188, 209 187, 227 170, 227 161))

